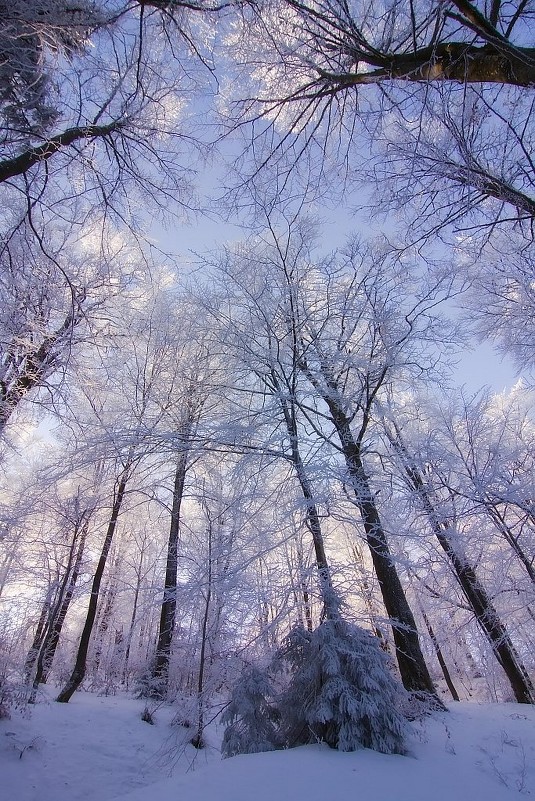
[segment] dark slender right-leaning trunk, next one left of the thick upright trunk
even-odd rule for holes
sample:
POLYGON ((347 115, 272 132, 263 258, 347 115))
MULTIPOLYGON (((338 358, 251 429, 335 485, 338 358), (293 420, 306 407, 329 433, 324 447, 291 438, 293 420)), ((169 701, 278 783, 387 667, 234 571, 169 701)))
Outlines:
POLYGON ((110 552, 113 535, 117 527, 117 519, 119 517, 119 512, 121 510, 121 505, 123 503, 123 498, 126 490, 126 484, 129 478, 129 470, 130 470, 130 464, 127 464, 123 472, 121 473, 118 482, 116 482, 116 491, 114 492, 111 517, 108 523, 108 528, 106 531, 104 544, 102 546, 102 551, 100 553, 100 559, 98 561, 97 569, 95 571, 93 584, 91 586, 89 608, 87 610, 85 625, 82 630, 80 644, 78 646, 76 662, 69 681, 67 682, 63 690, 60 692, 58 697, 56 698, 56 701, 59 701, 59 703, 66 704, 71 699, 72 695, 76 692, 76 690, 78 689, 78 687, 80 686, 85 677, 87 652, 89 650, 89 640, 91 638, 91 633, 93 631, 93 625, 95 623, 95 617, 97 614, 97 604, 100 592, 100 585, 102 583, 102 576, 104 574, 104 568, 106 567, 106 561, 108 559, 108 554, 110 552))

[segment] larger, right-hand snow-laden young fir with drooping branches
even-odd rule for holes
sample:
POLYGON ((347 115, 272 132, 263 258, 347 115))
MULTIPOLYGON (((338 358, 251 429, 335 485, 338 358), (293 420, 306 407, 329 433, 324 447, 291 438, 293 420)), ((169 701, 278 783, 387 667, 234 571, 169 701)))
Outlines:
POLYGON ((290 668, 280 697, 288 746, 326 742, 340 751, 403 753, 404 691, 376 637, 341 618, 292 629, 275 664, 290 668))

